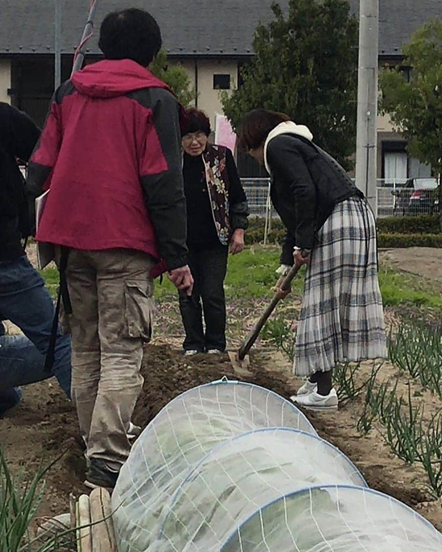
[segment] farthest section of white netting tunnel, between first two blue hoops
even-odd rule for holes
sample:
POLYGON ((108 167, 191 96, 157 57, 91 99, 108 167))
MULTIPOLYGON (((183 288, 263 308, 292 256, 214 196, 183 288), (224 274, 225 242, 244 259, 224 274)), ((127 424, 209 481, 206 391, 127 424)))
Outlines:
POLYGON ((218 381, 171 401, 136 440, 120 471, 112 495, 119 552, 154 550, 149 547, 157 541, 168 501, 216 445, 279 426, 316 434, 291 402, 256 385, 218 381))

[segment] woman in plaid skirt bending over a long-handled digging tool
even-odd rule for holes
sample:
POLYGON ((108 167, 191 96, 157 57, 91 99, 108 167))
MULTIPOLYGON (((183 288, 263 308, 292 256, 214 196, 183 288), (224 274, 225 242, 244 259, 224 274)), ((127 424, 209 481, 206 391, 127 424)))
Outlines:
POLYGON ((306 126, 264 109, 246 115, 240 132, 240 144, 271 174, 272 203, 287 228, 282 262, 308 265, 293 368, 308 379, 291 398, 311 410, 334 410, 333 368, 385 358, 385 322, 373 213, 312 140, 306 126))

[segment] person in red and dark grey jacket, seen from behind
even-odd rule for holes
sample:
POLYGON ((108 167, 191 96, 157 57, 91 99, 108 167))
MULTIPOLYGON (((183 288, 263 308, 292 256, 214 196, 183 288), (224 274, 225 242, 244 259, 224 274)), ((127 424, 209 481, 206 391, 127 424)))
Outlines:
POLYGON ((61 246, 67 256, 72 400, 87 444, 85 483, 113 487, 143 385, 151 271, 162 260, 189 295, 193 279, 182 108, 148 70, 161 47, 159 26, 144 10, 110 13, 99 47, 105 59, 55 92, 29 163, 28 190, 34 198, 49 189, 36 240, 61 246))

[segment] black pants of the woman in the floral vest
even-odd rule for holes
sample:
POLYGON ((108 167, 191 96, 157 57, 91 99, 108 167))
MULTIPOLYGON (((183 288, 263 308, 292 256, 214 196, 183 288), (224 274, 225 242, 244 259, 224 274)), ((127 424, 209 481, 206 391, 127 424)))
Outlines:
POLYGON ((189 250, 189 265, 195 283, 191 297, 180 292, 181 318, 186 331, 183 348, 198 352, 209 349, 225 351, 224 278, 228 247, 219 244, 209 249, 190 247, 189 250))

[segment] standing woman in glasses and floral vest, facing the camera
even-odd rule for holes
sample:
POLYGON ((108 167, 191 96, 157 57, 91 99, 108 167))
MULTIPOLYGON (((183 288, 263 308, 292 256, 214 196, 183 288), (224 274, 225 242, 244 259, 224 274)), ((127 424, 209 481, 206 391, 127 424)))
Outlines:
POLYGON ((225 351, 227 257, 229 248, 232 254, 243 250, 248 226, 247 200, 233 155, 227 147, 208 144, 210 133, 207 116, 195 108, 188 109, 182 135, 183 177, 194 287, 190 298, 180 293, 186 355, 225 351))

